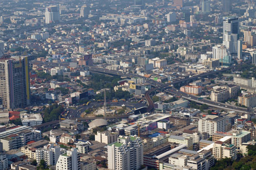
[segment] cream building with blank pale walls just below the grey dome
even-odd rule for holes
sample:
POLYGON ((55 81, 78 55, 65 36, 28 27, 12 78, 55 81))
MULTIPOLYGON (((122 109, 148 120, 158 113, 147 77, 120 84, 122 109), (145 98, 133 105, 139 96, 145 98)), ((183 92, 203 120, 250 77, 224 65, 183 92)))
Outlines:
POLYGON ((97 134, 95 135, 95 141, 110 144, 116 142, 117 137, 118 134, 112 133, 110 131, 97 132, 97 134))

